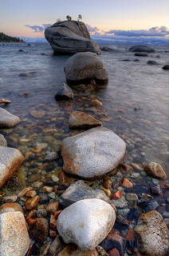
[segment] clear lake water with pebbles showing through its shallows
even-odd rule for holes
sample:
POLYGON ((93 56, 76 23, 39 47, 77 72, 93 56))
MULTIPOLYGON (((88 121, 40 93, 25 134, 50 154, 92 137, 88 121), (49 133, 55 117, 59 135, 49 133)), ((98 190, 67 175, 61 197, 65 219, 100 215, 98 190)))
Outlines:
MULTIPOLYGON (((150 54, 150 57, 136 57, 134 53, 127 51, 130 46, 108 47, 115 51, 102 51, 100 55, 108 70, 108 85, 73 87, 76 96, 73 101, 57 102, 54 93, 65 82, 63 69, 70 55, 54 55, 48 43, 33 43, 31 46, 26 43, 6 43, 5 46, 0 46, 0 95, 1 98, 12 101, 2 107, 22 119, 18 126, 1 130, 1 133, 9 146, 17 147, 23 154, 37 149, 39 143, 47 143, 40 145, 41 153, 33 152, 26 160, 24 171, 27 177, 32 174, 27 162, 31 162, 36 169, 38 165, 42 165, 46 154, 56 150, 56 145, 60 153, 59 143, 63 138, 77 132, 69 130, 67 123, 73 110, 93 114, 104 126, 124 138, 127 142, 125 163, 158 162, 169 173, 169 76, 168 71, 162 69, 169 61, 168 53, 165 52, 168 49, 155 46, 156 53, 150 54), (134 61, 136 58, 139 62, 134 61), (130 61, 123 61, 124 59, 130 61), (149 66, 148 60, 154 60, 159 65, 149 66), (22 73, 29 73, 29 76, 19 76, 22 73), (23 95, 25 93, 27 95, 23 95), (96 110, 91 106, 93 98, 103 102, 100 109, 96 110), (33 110, 39 111, 40 116, 31 114, 33 110), (48 129, 57 129, 57 132, 46 134, 45 130, 48 129), (29 141, 21 142, 21 138, 29 141)), ((59 158, 49 169, 61 164, 59 158)))

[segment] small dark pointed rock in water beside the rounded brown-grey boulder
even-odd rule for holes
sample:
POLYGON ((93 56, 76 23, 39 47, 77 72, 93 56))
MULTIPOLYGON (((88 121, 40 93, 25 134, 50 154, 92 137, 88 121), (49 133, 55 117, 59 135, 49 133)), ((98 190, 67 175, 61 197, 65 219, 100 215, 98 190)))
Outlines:
POLYGON ((69 99, 74 98, 73 90, 64 83, 59 87, 59 89, 56 91, 55 96, 56 99, 69 99))

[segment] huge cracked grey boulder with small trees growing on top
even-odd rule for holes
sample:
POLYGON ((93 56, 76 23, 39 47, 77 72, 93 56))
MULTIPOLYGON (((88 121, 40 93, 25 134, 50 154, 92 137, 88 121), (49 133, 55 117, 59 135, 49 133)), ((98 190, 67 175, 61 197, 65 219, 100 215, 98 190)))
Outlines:
POLYGON ((84 22, 56 22, 45 30, 45 38, 54 53, 76 54, 91 51, 100 54, 100 48, 90 38, 84 22))

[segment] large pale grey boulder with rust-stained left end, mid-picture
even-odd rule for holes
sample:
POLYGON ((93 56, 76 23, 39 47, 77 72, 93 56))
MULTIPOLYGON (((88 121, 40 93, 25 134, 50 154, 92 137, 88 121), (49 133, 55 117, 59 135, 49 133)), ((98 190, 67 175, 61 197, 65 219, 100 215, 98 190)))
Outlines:
POLYGON ((103 176, 120 164, 125 149, 124 140, 112 130, 92 128, 62 141, 63 170, 82 178, 103 176))

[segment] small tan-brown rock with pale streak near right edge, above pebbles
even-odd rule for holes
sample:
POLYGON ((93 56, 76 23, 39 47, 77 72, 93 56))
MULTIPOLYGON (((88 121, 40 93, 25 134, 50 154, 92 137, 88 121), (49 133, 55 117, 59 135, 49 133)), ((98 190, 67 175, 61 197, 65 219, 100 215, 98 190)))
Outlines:
POLYGON ((150 162, 147 166, 145 166, 144 170, 146 170, 147 174, 151 175, 154 178, 167 178, 163 167, 156 162, 150 162))

